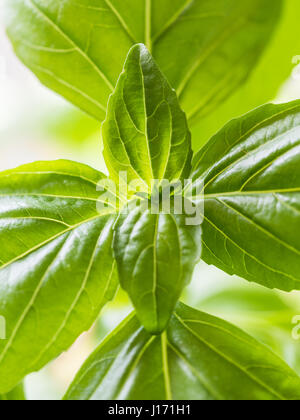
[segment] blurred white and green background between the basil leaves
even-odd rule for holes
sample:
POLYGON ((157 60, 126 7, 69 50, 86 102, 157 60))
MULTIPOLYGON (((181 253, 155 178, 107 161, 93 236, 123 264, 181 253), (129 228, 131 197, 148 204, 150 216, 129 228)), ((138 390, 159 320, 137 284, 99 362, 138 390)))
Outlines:
MULTIPOLYGON (((299 3, 286 2, 273 42, 247 85, 193 129, 196 147, 228 119, 267 99, 285 102, 300 97, 299 14, 295 13, 299 3)), ((0 7, 0 170, 63 158, 105 171, 100 124, 40 85, 18 61, 6 38, 1 13, 0 7)), ((300 292, 269 291, 201 263, 184 300, 241 326, 271 346, 300 374, 300 340, 292 337, 292 320, 300 315, 300 292)), ((91 331, 58 360, 26 379, 27 397, 61 398, 85 358, 130 310, 126 295, 120 291, 91 331)))

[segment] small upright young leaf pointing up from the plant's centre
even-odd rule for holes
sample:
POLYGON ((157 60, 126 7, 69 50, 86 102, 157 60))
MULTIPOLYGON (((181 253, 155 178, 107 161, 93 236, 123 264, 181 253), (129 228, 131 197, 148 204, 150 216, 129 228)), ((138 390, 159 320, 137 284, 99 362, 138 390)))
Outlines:
POLYGON ((139 181, 184 179, 190 171, 191 136, 176 93, 144 45, 127 57, 102 126, 104 157, 110 175, 139 181))

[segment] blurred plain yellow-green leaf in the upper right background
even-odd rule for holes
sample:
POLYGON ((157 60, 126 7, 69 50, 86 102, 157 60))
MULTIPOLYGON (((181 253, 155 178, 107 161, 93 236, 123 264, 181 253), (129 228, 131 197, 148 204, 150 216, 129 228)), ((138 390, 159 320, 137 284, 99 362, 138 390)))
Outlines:
MULTIPOLYGON (((193 127, 195 149, 203 146, 228 121, 276 98, 279 89, 289 79, 296 65, 293 63, 293 57, 299 57, 299 15, 298 0, 283 2, 282 15, 272 41, 247 82, 218 109, 199 119, 193 127)), ((294 99, 297 99, 297 96, 294 99)))

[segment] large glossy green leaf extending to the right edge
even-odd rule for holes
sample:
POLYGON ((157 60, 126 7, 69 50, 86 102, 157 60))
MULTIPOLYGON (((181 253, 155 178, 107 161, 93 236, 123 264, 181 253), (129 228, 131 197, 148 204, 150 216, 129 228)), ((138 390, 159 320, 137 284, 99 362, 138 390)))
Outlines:
POLYGON ((202 258, 270 288, 300 289, 300 102, 234 120, 195 157, 202 258))

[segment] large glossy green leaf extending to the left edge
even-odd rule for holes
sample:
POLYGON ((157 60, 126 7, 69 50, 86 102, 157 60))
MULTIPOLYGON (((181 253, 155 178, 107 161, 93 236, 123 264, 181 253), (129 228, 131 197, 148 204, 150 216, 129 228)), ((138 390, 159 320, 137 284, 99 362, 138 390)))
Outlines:
POLYGON ((1 393, 68 349, 114 296, 114 209, 97 208, 103 178, 68 161, 0 174, 1 393))

